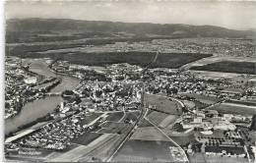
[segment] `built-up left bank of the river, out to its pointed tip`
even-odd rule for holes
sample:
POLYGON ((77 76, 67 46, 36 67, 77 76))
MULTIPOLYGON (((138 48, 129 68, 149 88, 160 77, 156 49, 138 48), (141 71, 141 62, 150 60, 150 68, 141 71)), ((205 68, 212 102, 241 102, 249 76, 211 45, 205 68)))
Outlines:
POLYGON ((14 57, 5 62, 5 118, 17 115, 27 102, 44 97, 61 82, 60 79, 41 77, 21 62, 14 57))

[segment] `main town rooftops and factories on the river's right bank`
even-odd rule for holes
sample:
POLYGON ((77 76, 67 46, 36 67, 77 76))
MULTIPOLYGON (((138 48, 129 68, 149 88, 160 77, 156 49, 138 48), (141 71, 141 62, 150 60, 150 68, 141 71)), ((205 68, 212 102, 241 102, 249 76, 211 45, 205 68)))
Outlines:
MULTIPOLYGON (((194 139, 182 146, 187 155, 204 152, 208 156, 254 159, 251 149, 254 140, 248 134, 253 123, 252 116, 227 114, 215 109, 219 104, 225 107, 253 107, 249 106, 253 102, 248 102, 247 99, 255 94, 255 90, 251 85, 245 85, 246 82, 243 84, 241 81, 209 79, 191 71, 162 68, 144 72, 141 67, 126 63, 90 67, 56 61, 51 68, 56 73, 73 76, 81 81, 73 90, 61 93, 65 102, 54 113, 47 115, 50 123, 9 143, 9 148, 62 151, 72 145, 74 138, 84 136, 87 132, 113 130, 118 131, 117 135, 122 135, 123 130, 128 131, 131 128, 129 125, 135 124, 138 117, 129 118, 128 113, 139 111, 145 91, 151 95, 164 96, 173 105, 176 103, 176 111, 181 108, 181 116, 174 118, 172 125, 164 130, 174 135, 193 133, 194 139), (109 112, 123 112, 120 122, 124 124, 107 120, 110 119, 109 112), (96 116, 92 121, 88 118, 90 113, 96 116)), ((41 91, 41 83, 44 86, 45 83, 52 85, 56 80, 44 79, 40 84, 32 85, 32 90, 46 92, 47 90, 41 91)), ((166 114, 157 107, 159 106, 153 105, 147 109, 166 114)), ((155 118, 150 118, 152 117, 155 118)), ((186 158, 182 155, 183 149, 169 147, 170 154, 174 154, 177 161, 186 158)))

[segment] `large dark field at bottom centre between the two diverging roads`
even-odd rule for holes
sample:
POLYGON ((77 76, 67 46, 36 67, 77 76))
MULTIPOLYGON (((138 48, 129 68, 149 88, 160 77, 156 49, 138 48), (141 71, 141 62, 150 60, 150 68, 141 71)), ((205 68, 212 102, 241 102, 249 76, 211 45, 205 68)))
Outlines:
POLYGON ((113 158, 113 162, 171 162, 169 141, 128 140, 113 158))

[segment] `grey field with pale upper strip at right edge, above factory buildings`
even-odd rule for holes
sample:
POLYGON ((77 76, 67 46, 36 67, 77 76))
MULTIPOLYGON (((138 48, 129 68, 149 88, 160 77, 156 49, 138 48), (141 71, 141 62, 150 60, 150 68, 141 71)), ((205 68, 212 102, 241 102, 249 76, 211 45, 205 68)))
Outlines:
POLYGON ((241 115, 253 115, 256 114, 256 106, 248 106, 237 103, 224 102, 211 107, 213 110, 217 110, 221 113, 227 114, 241 114, 241 115))

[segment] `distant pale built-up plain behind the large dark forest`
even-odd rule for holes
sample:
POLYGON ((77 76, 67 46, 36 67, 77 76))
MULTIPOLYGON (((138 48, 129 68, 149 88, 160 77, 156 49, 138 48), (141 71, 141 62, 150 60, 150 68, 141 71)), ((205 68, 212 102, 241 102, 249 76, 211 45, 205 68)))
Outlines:
MULTIPOLYGON (((219 56, 251 57, 255 55, 255 44, 250 39, 228 38, 180 38, 154 39, 134 43, 117 42, 104 45, 101 50, 109 51, 155 51, 161 49, 170 53, 210 53, 219 56)), ((86 48, 88 51, 99 50, 97 46, 86 48)))

